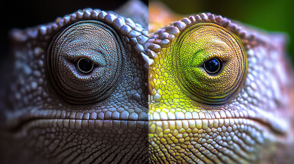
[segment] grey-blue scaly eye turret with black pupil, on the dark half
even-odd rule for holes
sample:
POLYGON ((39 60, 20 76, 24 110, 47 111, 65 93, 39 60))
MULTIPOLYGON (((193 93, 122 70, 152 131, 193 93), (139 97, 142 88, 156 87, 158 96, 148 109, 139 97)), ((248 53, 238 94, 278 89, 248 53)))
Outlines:
POLYGON ((51 42, 47 66, 53 89, 75 105, 106 100, 123 73, 123 42, 112 27, 82 20, 51 42))

